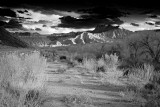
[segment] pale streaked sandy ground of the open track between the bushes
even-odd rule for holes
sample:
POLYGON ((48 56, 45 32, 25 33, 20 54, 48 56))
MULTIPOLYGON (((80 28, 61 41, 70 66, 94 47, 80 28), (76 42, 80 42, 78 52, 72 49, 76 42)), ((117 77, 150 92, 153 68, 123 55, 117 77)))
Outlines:
POLYGON ((62 63, 48 64, 45 87, 53 100, 44 104, 45 107, 140 107, 139 103, 131 100, 132 96, 124 95, 125 84, 102 83, 99 76, 86 73, 83 68, 67 67, 62 63), (72 97, 85 103, 69 102, 72 97))

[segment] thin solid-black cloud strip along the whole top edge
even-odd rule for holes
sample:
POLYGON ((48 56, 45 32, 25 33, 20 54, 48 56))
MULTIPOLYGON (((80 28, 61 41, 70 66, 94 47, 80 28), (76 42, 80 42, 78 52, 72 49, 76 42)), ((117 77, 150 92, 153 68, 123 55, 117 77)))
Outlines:
POLYGON ((146 0, 1 0, 0 5, 19 7, 23 4, 43 6, 46 8, 53 7, 68 7, 78 8, 84 6, 125 6, 136 8, 159 8, 158 0, 146 1, 146 0))

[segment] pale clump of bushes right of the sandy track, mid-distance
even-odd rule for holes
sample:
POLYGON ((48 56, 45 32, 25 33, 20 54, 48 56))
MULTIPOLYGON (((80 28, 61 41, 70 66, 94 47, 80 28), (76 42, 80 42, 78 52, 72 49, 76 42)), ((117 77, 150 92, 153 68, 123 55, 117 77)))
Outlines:
POLYGON ((119 77, 123 75, 123 72, 117 69, 118 64, 116 54, 105 54, 105 58, 100 58, 97 61, 95 59, 84 59, 82 67, 86 68, 93 76, 99 77, 102 84, 109 82, 115 85, 123 85, 119 81, 119 77))

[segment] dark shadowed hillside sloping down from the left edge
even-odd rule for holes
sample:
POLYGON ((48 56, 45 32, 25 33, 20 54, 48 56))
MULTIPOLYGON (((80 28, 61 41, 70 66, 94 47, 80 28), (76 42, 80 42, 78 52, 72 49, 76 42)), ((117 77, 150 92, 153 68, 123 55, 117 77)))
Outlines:
POLYGON ((18 37, 13 36, 5 28, 0 27, 0 45, 11 46, 16 48, 28 48, 30 47, 27 43, 20 40, 18 37))

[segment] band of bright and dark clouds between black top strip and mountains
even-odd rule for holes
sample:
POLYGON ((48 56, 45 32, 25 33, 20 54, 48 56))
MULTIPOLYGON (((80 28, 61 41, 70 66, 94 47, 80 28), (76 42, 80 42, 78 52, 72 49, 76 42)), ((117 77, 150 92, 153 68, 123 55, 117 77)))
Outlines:
POLYGON ((153 10, 133 12, 105 6, 76 10, 0 7, 0 26, 11 32, 69 33, 93 30, 101 24, 131 31, 160 29, 160 14, 153 10))

